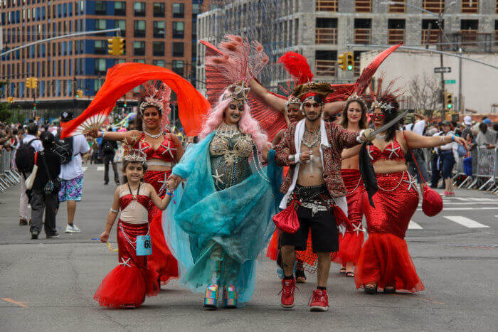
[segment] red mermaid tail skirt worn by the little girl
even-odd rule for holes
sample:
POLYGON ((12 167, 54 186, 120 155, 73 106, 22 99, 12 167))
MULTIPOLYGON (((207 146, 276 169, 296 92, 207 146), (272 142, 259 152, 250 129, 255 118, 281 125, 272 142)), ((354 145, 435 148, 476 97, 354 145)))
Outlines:
POLYGON ((100 283, 93 298, 100 306, 122 308, 139 307, 145 296, 159 293, 157 272, 147 268, 147 256, 137 256, 134 243, 139 235, 147 235, 149 225, 130 224, 121 220, 117 225, 119 263, 100 283), (131 242, 131 243, 130 243, 131 242))

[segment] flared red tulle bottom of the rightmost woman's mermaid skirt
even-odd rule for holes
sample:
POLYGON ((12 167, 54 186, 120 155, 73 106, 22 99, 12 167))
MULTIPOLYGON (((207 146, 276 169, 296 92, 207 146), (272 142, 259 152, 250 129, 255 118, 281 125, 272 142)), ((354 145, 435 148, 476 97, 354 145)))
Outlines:
POLYGON ((380 289, 395 286, 396 291, 423 291, 406 241, 392 234, 370 233, 354 272, 356 289, 377 284, 380 289))

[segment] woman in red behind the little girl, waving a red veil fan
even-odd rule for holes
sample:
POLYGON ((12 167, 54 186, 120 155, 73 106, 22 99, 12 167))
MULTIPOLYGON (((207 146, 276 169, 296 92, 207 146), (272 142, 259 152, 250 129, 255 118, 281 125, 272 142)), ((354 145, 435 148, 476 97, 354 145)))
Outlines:
MULTIPOLYGON (((172 134, 167 124, 171 89, 164 83, 159 87, 144 85, 139 95, 139 110, 135 128, 129 132, 97 132, 95 136, 105 139, 124 140, 134 144, 147 157, 147 172, 144 181, 154 186, 159 196, 166 194, 166 179, 171 167, 181 159, 184 149, 178 137, 172 134)), ((155 267, 164 285, 172 278, 178 278, 178 264, 166 246, 161 228, 161 211, 149 203, 149 223, 152 237, 152 255, 149 266, 155 267)))

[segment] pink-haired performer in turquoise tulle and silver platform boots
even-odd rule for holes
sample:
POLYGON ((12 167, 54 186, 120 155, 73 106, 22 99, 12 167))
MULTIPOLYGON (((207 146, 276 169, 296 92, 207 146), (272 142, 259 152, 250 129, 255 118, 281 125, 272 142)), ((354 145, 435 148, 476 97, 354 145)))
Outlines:
POLYGON ((222 288, 223 308, 251 299, 255 259, 274 230, 277 204, 270 181, 281 176, 270 174, 275 168, 271 156, 267 168, 260 164, 267 136, 250 116, 246 99, 248 80, 267 56, 258 43, 238 36, 226 36, 218 48, 222 54, 207 56, 206 65, 218 67, 225 82, 232 83, 204 122, 201 141, 190 144, 173 168, 169 188, 188 181, 176 190, 178 204, 169 206, 163 223, 179 260, 181 283, 206 290, 206 309, 218 307, 222 288))

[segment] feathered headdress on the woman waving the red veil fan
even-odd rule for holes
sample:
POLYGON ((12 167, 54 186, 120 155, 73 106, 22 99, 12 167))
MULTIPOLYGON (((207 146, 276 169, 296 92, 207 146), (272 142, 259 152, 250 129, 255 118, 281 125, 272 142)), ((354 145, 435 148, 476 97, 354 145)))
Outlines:
POLYGON ((144 115, 144 109, 149 106, 159 109, 159 112, 162 114, 161 130, 164 131, 169 124, 169 114, 171 113, 171 88, 163 82, 155 85, 144 84, 140 87, 137 97, 140 101, 140 114, 144 115))

